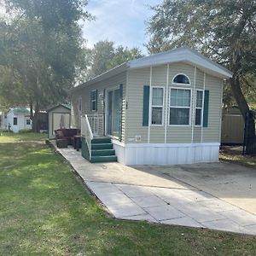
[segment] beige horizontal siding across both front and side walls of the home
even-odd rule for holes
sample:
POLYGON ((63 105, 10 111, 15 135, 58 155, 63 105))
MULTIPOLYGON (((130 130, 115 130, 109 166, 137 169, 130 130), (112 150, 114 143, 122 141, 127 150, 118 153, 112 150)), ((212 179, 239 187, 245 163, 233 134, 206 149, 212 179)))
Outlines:
MULTIPOLYGON (((169 65, 152 67, 150 80, 150 67, 128 69, 110 79, 104 79, 76 90, 72 95, 72 104, 75 124, 79 126, 80 114, 104 114, 104 93, 108 89, 118 88, 123 84, 122 105, 122 142, 125 143, 218 143, 221 117, 222 79, 203 73, 199 68, 187 63, 178 62, 169 65), (190 84, 172 84, 172 79, 178 73, 189 77, 190 84), (168 80, 167 80, 168 79, 168 80), (166 84, 168 87, 166 89, 166 84), (143 86, 161 86, 164 88, 163 124, 159 126, 143 126, 143 86), (190 124, 169 125, 169 103, 171 87, 191 90, 190 124), (195 124, 195 94, 196 90, 209 90, 209 121, 208 127, 196 127, 195 124), (97 111, 90 111, 90 91, 97 90, 97 111), (105 90, 105 91, 104 91, 105 90), (166 100, 166 93, 168 94, 166 100), (79 97, 82 97, 82 111, 79 113, 79 97), (167 118, 166 118, 167 117, 167 118), (149 141, 148 141, 149 135, 149 141)), ((149 108, 149 115, 151 109, 149 108)))

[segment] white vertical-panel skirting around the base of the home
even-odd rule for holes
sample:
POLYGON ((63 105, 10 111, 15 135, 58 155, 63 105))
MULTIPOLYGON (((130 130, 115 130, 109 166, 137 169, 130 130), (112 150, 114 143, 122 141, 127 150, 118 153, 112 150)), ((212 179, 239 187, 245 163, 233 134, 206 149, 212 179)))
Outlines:
POLYGON ((125 166, 218 162, 219 143, 112 143, 125 166))

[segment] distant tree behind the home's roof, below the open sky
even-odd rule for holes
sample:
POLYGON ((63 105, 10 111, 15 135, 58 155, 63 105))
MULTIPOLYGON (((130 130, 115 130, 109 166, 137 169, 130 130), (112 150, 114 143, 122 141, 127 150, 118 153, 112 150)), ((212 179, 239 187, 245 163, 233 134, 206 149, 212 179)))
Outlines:
POLYGON ((113 41, 99 41, 90 51, 90 67, 88 67, 87 79, 91 79, 119 66, 120 64, 142 57, 142 53, 137 48, 128 49, 122 45, 114 46, 113 41))

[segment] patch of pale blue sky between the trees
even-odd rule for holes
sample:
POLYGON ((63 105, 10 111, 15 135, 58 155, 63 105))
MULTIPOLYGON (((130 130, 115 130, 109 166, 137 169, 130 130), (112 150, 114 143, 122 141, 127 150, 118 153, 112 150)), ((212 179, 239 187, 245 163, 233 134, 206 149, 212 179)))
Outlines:
POLYGON ((153 14, 148 5, 160 0, 90 0, 87 10, 96 20, 84 22, 83 33, 87 46, 108 39, 128 48, 138 47, 147 54, 143 46, 147 42, 145 20, 153 14))

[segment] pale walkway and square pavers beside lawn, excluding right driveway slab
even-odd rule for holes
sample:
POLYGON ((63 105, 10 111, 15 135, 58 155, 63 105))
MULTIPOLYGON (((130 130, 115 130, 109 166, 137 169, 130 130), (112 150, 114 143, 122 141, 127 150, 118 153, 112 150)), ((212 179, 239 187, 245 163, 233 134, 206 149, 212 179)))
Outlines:
POLYGON ((57 150, 115 218, 256 235, 252 212, 197 189, 189 178, 185 182, 167 178, 152 166, 90 164, 73 148, 57 150), (147 172, 142 170, 147 167, 147 172))

